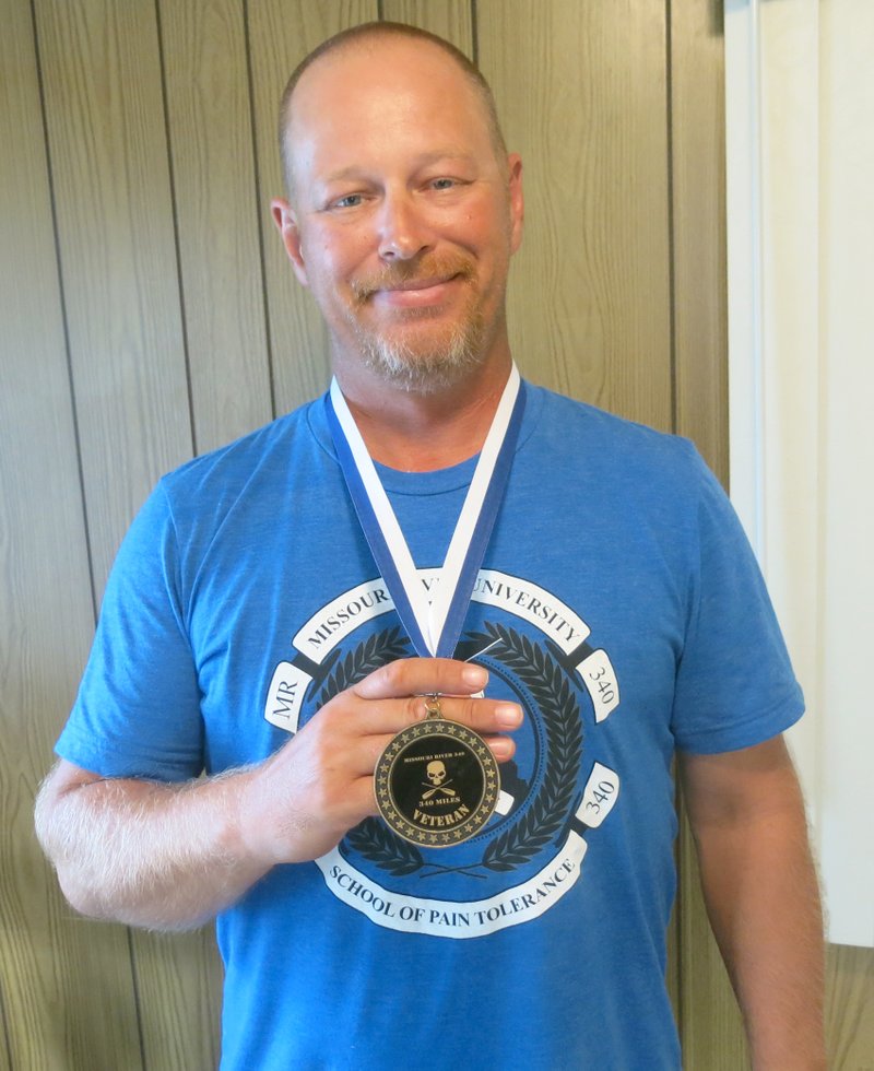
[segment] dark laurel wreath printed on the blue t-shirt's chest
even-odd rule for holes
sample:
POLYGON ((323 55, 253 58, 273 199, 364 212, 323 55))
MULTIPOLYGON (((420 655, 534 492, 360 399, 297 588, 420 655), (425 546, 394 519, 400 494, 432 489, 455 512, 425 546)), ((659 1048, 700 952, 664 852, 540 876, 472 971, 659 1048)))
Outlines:
MULTIPOLYGON (((579 704, 560 667, 515 629, 492 624, 486 624, 485 628, 484 633, 465 638, 480 645, 481 649, 488 647, 489 657, 506 666, 528 688, 543 717, 547 762, 543 784, 525 814, 488 845, 481 863, 460 868, 465 873, 471 873, 477 866, 496 871, 513 870, 548 844, 567 820, 582 756, 579 704)), ((387 661, 403 657, 406 644, 398 632, 395 627, 381 633, 351 651, 326 682, 321 703, 327 703, 387 661), (394 654, 398 648, 403 649, 394 654)), ((415 845, 403 840, 376 819, 362 822, 346 835, 346 841, 381 870, 395 876, 412 874, 425 867, 415 845)), ((435 872, 448 869, 438 867, 435 872)))

